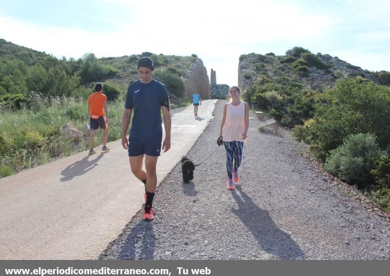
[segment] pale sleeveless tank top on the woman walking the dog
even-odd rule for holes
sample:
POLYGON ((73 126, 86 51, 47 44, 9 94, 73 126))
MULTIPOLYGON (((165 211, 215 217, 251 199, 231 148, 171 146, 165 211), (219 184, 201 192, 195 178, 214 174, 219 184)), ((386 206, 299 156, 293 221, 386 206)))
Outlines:
POLYGON ((240 141, 245 142, 242 139, 242 133, 244 133, 245 124, 245 105, 240 102, 238 106, 232 105, 232 102, 226 106, 226 118, 225 124, 222 127, 223 141, 232 142, 240 141))

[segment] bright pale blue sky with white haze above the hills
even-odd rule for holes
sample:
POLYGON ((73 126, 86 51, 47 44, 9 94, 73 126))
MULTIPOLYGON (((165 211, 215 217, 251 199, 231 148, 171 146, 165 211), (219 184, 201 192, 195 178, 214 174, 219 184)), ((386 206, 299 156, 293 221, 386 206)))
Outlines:
POLYGON ((237 84, 242 54, 294 46, 390 71, 388 0, 2 1, 0 38, 61 57, 196 54, 237 84))

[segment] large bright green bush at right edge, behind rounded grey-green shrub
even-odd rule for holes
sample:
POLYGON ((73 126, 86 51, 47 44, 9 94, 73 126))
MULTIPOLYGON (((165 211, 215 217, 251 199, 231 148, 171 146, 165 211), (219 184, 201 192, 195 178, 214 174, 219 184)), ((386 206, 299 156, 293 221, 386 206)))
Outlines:
POLYGON ((373 133, 380 147, 390 144, 390 89, 371 81, 340 79, 325 93, 311 124, 313 153, 325 160, 350 134, 373 133))

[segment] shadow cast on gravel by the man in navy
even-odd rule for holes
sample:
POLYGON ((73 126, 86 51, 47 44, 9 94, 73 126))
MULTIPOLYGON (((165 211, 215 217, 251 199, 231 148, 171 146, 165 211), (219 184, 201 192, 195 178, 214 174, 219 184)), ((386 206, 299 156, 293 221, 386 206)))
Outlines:
POLYGON ((156 247, 153 228, 152 221, 139 221, 127 235, 117 259, 153 260, 156 247))

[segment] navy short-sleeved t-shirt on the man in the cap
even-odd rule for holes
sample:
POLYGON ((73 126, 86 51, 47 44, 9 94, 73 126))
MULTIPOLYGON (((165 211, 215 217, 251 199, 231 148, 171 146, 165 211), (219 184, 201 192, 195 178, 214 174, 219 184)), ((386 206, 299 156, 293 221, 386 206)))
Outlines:
POLYGON ((152 79, 149 83, 137 80, 129 85, 125 108, 133 110, 130 139, 162 137, 161 106, 169 107, 165 85, 152 79))

